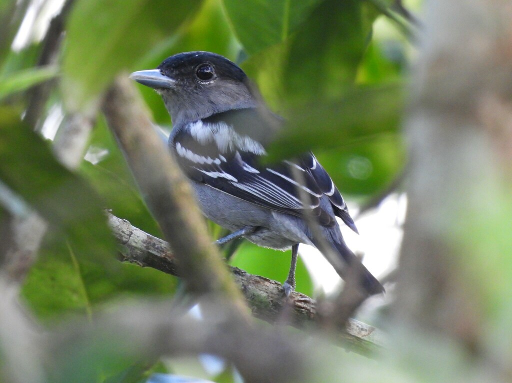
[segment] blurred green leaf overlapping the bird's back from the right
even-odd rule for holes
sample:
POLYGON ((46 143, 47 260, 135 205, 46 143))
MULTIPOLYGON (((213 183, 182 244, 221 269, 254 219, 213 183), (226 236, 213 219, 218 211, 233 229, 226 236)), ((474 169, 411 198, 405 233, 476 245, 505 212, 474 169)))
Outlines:
POLYGON ((403 109, 402 93, 400 84, 355 87, 337 101, 296 106, 288 113, 286 129, 270 145, 269 160, 397 132, 403 109))

